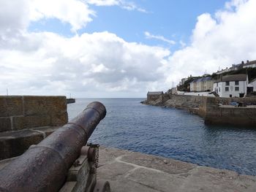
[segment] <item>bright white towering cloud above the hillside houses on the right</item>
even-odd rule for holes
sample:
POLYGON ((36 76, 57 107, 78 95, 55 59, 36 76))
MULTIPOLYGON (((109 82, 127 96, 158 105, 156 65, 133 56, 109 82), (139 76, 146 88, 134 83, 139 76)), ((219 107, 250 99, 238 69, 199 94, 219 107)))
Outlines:
POLYGON ((255 60, 255 7, 255 0, 233 0, 214 15, 199 15, 191 42, 169 58, 169 82, 255 60))

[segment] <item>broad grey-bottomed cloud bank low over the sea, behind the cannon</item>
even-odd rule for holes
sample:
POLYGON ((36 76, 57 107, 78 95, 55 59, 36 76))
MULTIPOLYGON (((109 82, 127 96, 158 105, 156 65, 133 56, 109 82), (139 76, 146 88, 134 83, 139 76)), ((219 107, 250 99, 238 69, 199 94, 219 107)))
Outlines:
POLYGON ((162 47, 126 42, 109 32, 72 38, 23 34, 9 47, 0 50, 0 90, 16 94, 146 93, 151 84, 165 81, 161 68, 170 55, 162 47))

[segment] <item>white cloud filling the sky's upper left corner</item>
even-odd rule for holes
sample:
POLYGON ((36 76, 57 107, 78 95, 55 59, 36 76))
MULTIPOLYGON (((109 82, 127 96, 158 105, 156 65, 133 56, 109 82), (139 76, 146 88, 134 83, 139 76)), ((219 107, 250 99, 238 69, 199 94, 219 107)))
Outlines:
POLYGON ((0 33, 26 30, 31 21, 56 18, 73 32, 91 22, 95 12, 79 0, 0 0, 0 33))

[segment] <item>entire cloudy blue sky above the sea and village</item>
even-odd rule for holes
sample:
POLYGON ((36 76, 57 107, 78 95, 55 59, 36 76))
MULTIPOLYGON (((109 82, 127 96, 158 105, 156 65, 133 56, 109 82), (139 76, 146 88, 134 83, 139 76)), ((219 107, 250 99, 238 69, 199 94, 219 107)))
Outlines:
POLYGON ((256 0, 0 0, 0 95, 146 97, 256 60, 256 0))

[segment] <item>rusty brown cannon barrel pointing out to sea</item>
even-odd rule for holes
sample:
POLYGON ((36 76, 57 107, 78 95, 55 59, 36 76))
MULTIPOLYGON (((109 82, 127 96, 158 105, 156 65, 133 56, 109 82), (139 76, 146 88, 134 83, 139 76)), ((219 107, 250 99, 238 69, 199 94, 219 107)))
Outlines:
POLYGON ((1 169, 0 191, 59 191, 81 147, 105 115, 103 104, 89 104, 76 118, 1 169))

